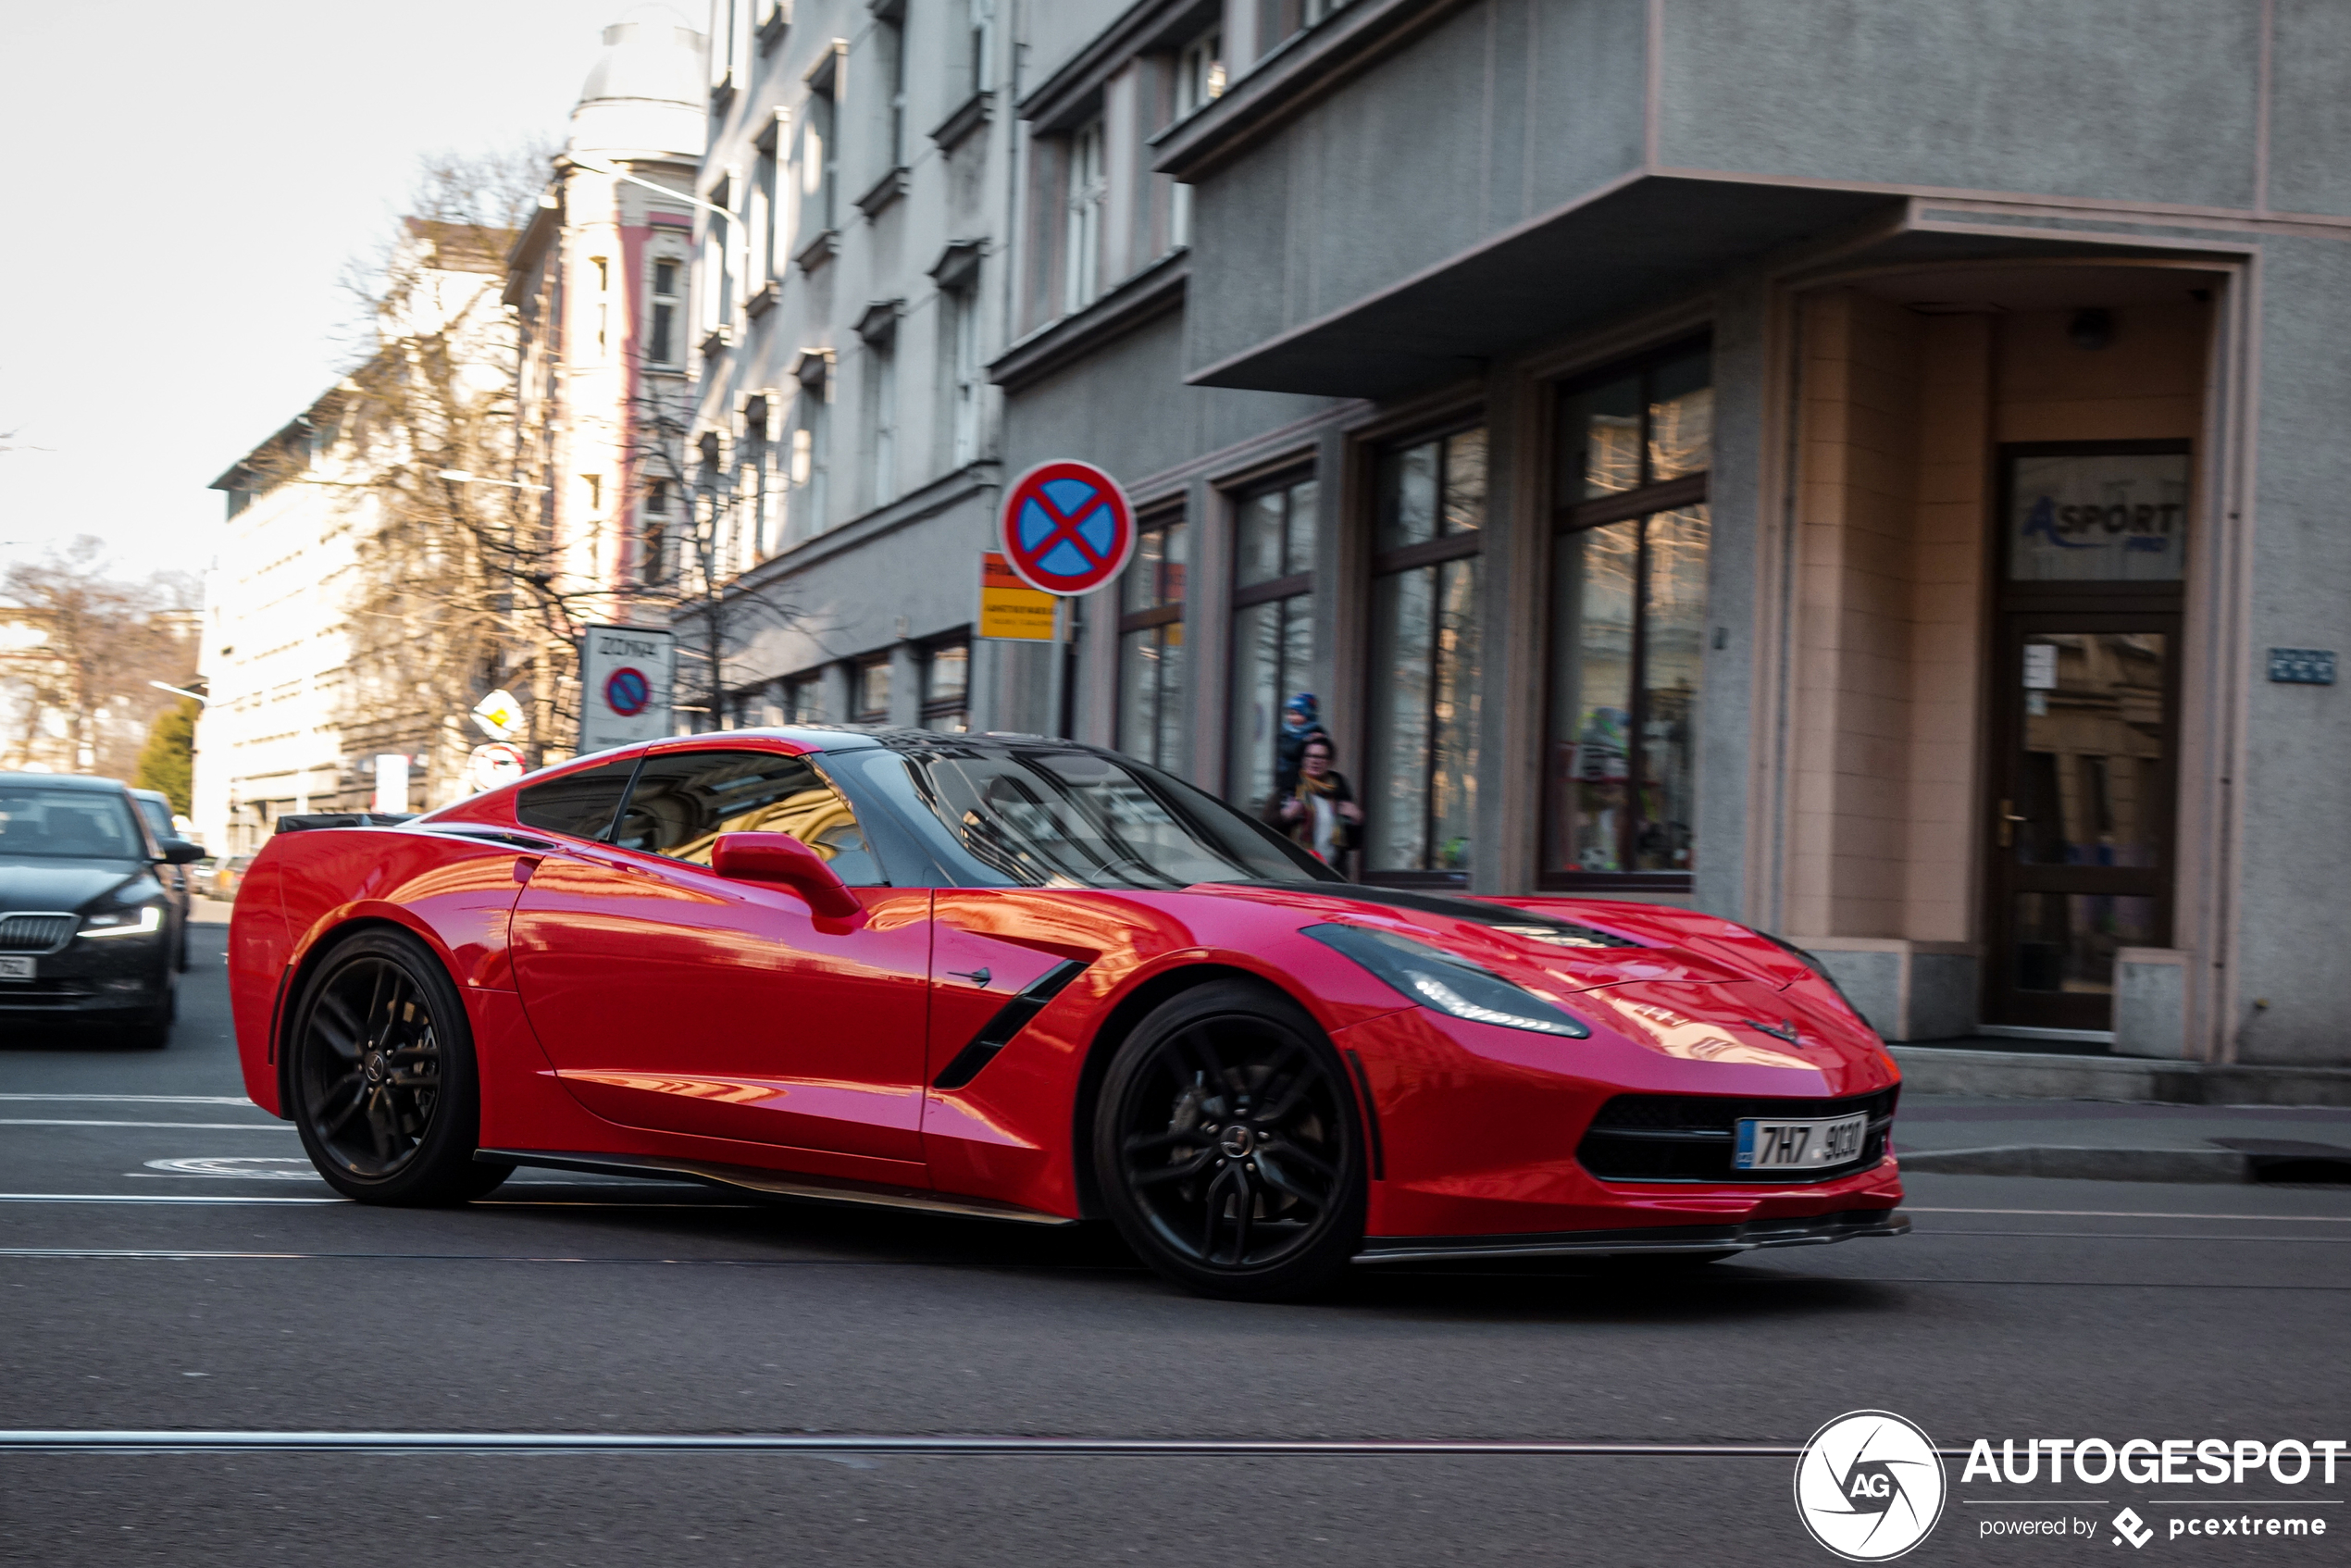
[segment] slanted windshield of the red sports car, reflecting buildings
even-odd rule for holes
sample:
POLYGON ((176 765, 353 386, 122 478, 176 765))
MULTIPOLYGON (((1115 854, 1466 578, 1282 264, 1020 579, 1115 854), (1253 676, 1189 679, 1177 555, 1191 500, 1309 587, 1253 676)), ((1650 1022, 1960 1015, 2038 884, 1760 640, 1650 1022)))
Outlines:
POLYGON ((1027 745, 832 752, 966 886, 1335 882, 1232 806, 1126 757, 1027 745))

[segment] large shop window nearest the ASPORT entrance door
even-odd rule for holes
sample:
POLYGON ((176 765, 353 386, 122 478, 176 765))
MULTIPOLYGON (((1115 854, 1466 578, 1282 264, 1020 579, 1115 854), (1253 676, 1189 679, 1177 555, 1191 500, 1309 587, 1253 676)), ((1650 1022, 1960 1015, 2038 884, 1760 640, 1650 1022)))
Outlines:
POLYGON ((1559 400, 1538 867, 1549 886, 1686 886, 1697 865, 1712 437, 1704 346, 1580 381, 1559 400))

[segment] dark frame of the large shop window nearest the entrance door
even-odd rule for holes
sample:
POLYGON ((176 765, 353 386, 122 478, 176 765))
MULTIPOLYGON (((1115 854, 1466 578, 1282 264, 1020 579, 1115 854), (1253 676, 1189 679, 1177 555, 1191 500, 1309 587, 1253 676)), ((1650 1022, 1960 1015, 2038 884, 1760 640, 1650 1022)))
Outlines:
MULTIPOLYGON (((1620 851, 1617 858, 1627 858, 1622 846, 1639 839, 1641 823, 1641 780, 1646 748, 1641 745, 1648 724, 1648 583, 1650 583, 1650 548, 1648 548, 1648 520, 1679 512, 1695 505, 1707 505, 1709 482, 1714 477, 1714 454, 1712 442, 1707 451, 1707 468, 1688 475, 1674 475, 1672 480, 1650 480, 1648 465, 1653 458, 1650 444, 1650 409, 1655 397, 1650 395, 1650 376, 1662 364, 1683 360, 1697 350, 1707 350, 1707 386, 1714 386, 1714 334, 1697 331, 1690 336, 1674 339, 1672 343, 1660 343, 1657 348, 1646 348, 1636 355, 1625 355, 1610 360, 1589 371, 1580 371, 1563 381, 1549 386, 1552 393, 1552 430, 1554 440, 1559 433, 1561 409, 1578 393, 1608 386, 1613 381, 1625 381, 1634 376, 1639 381, 1639 407, 1641 407, 1641 430, 1636 437, 1636 451, 1641 454, 1641 482, 1632 489, 1622 489, 1608 496, 1580 498, 1566 494, 1566 451, 1552 454, 1549 484, 1552 484, 1552 515, 1545 531, 1545 625, 1542 625, 1542 766, 1538 769, 1538 799, 1535 799, 1535 889, 1545 893, 1563 891, 1620 891, 1620 893, 1690 893, 1697 886, 1695 856, 1693 870, 1660 872, 1660 870, 1627 870, 1627 872, 1585 872, 1585 870, 1552 870, 1547 863, 1552 858, 1554 835, 1563 830, 1563 806, 1554 802, 1552 790, 1552 757, 1559 745, 1554 724, 1559 719, 1559 649, 1556 649, 1556 604, 1552 576, 1559 569, 1559 541, 1573 534, 1587 534, 1592 529, 1613 527, 1620 522, 1641 522, 1641 534, 1634 555, 1634 585, 1632 585, 1632 658, 1627 665, 1627 691, 1632 708, 1627 708, 1625 733, 1625 823, 1617 827, 1620 851)), ((1582 470, 1578 468, 1578 475, 1582 470)), ((1693 835, 1695 849, 1695 835, 1693 835)))

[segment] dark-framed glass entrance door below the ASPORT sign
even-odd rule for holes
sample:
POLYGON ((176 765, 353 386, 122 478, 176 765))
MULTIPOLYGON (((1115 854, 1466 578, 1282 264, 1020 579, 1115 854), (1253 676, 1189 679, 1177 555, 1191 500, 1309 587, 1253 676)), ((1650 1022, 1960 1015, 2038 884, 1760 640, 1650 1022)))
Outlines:
POLYGON ((2003 616, 1984 1023, 2114 1027, 2172 940, 2177 614, 2003 616))

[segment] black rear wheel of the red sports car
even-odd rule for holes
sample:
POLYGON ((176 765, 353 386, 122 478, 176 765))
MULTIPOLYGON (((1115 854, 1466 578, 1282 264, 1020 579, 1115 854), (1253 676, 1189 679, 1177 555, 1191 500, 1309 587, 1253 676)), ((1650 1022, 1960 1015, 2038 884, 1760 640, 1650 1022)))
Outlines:
POLYGON ((465 1006, 402 931, 362 931, 320 961, 287 1030, 294 1126, 310 1164, 364 1204, 458 1204, 510 1166, 473 1157, 480 1088, 465 1006))

